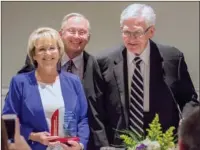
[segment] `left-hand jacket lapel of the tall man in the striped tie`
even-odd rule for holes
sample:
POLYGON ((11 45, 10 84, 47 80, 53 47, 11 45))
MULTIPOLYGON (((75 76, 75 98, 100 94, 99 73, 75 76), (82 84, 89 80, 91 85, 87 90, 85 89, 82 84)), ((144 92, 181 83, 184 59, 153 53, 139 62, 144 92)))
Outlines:
POLYGON ((121 105, 123 107, 123 114, 126 125, 128 125, 128 71, 127 71, 127 56, 124 46, 121 47, 119 55, 115 58, 115 66, 113 68, 114 76, 120 92, 121 105))

